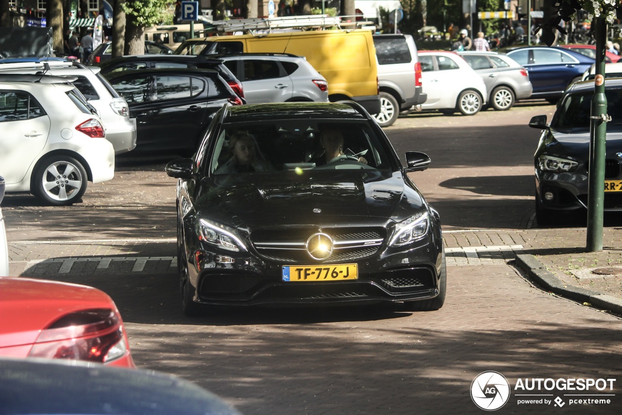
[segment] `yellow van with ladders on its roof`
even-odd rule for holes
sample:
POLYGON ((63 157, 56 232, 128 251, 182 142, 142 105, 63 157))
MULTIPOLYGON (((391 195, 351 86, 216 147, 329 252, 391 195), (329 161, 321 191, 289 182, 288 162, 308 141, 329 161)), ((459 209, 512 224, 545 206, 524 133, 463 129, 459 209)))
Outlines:
POLYGON ((366 29, 272 32, 190 39, 177 55, 288 53, 304 56, 328 81, 328 99, 353 100, 370 114, 380 112, 376 49, 366 29))

